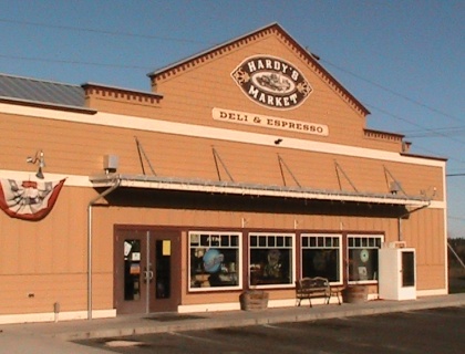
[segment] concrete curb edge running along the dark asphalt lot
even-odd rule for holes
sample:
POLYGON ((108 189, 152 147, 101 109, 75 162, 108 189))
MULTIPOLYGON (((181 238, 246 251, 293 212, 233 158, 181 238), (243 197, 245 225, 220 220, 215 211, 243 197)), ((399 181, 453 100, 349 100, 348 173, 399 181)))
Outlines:
POLYGON ((406 302, 370 301, 359 304, 319 305, 314 308, 267 309, 264 311, 234 311, 221 313, 199 313, 202 319, 172 321, 163 323, 144 317, 131 321, 108 321, 106 325, 91 327, 92 323, 76 324, 70 331, 55 332, 50 335, 64 341, 87 339, 131 336, 135 334, 184 332, 213 330, 221 327, 264 325, 286 322, 317 321, 334 317, 364 316, 393 312, 406 312, 437 308, 465 306, 465 294, 434 299, 421 299, 406 302), (81 326, 81 329, 79 329, 81 326))

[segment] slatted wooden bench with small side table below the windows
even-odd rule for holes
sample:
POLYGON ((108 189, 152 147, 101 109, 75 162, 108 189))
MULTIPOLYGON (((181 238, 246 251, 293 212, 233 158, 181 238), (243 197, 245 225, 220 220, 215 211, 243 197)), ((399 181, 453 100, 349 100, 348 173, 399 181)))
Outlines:
POLYGON ((331 296, 337 296, 341 304, 341 292, 343 287, 331 287, 327 278, 302 278, 296 281, 296 305, 300 306, 302 300, 308 299, 312 308, 311 299, 323 298, 329 304, 331 296))

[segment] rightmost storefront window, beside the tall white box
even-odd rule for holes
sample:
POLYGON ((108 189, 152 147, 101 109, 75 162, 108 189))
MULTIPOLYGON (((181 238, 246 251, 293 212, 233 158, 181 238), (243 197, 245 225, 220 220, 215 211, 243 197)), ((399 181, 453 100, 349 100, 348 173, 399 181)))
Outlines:
POLYGON ((378 250, 383 236, 348 236, 349 282, 378 281, 378 250))

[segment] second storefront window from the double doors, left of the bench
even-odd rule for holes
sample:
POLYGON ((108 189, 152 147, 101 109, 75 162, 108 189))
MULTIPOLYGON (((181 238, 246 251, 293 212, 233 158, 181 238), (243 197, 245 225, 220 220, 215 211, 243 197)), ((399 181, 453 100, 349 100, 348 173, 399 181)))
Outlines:
POLYGON ((250 233, 250 285, 292 285, 293 244, 293 235, 250 233))

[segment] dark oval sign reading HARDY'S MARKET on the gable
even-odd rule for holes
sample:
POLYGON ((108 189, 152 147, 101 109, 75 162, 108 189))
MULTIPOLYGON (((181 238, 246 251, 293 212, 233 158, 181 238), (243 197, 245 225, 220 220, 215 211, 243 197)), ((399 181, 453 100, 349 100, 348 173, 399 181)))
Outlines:
POLYGON ((275 110, 296 108, 312 91, 296 66, 275 56, 247 58, 231 76, 250 100, 275 110))

